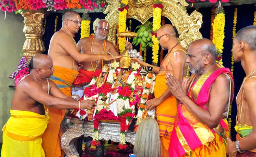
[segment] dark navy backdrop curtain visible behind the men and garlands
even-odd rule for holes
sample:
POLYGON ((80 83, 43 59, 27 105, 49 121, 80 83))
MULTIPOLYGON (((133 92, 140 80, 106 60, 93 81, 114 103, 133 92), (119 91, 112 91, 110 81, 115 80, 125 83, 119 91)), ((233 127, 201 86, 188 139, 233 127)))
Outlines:
MULTIPOLYGON (((233 29, 235 7, 236 6, 224 7, 226 23, 224 28, 225 38, 224 38, 224 49, 223 49, 223 65, 228 68, 231 67, 232 29, 233 29)), ((187 9, 187 13, 190 15, 194 10, 195 8, 187 9)), ((237 30, 253 24, 254 11, 255 11, 254 4, 237 5, 237 25, 236 25, 237 30)), ((203 18, 202 18, 203 24, 202 24, 202 27, 200 28, 200 32, 202 33, 202 36, 204 38, 210 38, 211 7, 199 8, 198 12, 200 12, 203 15, 203 18)), ((82 17, 82 13, 80 13, 80 15, 82 17)), ((58 22, 56 27, 57 28, 56 31, 58 31, 61 28, 61 22, 62 22, 61 13, 50 13, 50 15, 48 15, 46 18, 46 31, 43 39, 45 41, 45 48, 46 48, 45 54, 47 54, 48 52, 50 39, 54 34, 56 16, 58 16, 58 22)), ((105 18, 106 15, 104 13, 89 13, 89 16, 91 17, 91 33, 94 33, 93 22, 95 21, 96 18, 100 18, 100 19, 105 18)), ((141 23, 135 19, 127 19, 126 26, 128 27, 129 27, 130 20, 132 20, 132 31, 134 31, 134 29, 141 23)), ((152 21, 152 18, 149 20, 152 21)), ((171 24, 171 22, 167 18, 165 18, 165 24, 171 24)), ((76 42, 80 40, 80 31, 76 34, 75 40, 76 42)), ((139 50, 139 46, 136 46, 134 48, 139 50)), ((166 53, 167 51, 164 51, 164 55, 166 55, 166 53)), ((150 64, 152 63, 151 57, 152 57, 152 49, 148 49, 147 62, 150 64)), ((159 60, 160 60, 160 56, 159 56, 159 60)), ((159 66, 159 62, 158 62, 158 66, 159 66)), ((244 77, 245 77, 245 73, 243 71, 243 68, 241 67, 241 64, 235 63, 234 64, 235 98, 244 77)), ((235 140, 236 138, 235 136, 236 131, 234 130, 234 126, 236 124, 236 113, 237 113, 235 98, 232 104, 232 115, 231 115, 232 116, 231 132, 232 132, 233 140, 235 140)))

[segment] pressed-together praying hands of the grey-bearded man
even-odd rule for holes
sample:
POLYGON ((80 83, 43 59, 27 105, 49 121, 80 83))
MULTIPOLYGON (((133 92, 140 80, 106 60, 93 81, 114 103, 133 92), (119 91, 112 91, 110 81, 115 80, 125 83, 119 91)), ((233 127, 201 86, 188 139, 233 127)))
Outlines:
POLYGON ((183 97, 187 96, 186 85, 188 79, 183 79, 181 84, 172 74, 168 73, 165 78, 168 88, 176 99, 182 100, 183 97))

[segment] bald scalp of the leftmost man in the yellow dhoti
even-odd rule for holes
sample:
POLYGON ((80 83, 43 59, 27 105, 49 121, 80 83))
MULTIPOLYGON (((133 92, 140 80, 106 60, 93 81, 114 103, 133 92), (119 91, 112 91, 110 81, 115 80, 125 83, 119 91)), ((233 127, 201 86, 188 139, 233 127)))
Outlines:
POLYGON ((49 64, 52 64, 52 58, 45 54, 37 54, 33 56, 28 63, 29 71, 32 69, 37 68, 43 68, 44 66, 47 66, 49 64))

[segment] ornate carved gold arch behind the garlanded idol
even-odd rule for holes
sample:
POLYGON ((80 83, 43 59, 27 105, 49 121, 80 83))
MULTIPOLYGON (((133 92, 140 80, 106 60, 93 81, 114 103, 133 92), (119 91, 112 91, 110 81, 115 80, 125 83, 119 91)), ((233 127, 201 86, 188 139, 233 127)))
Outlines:
MULTIPOLYGON (((109 22, 108 40, 115 45, 115 34, 118 26, 118 7, 119 0, 108 0, 108 7, 104 11, 106 20, 109 22)), ((144 24, 153 16, 154 0, 129 0, 129 9, 127 18, 134 18, 144 24)), ((194 11, 190 16, 187 14, 186 0, 162 0, 162 16, 171 20, 180 34, 178 38, 180 44, 187 49, 189 44, 197 39, 202 38, 199 29, 202 24, 202 15, 194 11)))

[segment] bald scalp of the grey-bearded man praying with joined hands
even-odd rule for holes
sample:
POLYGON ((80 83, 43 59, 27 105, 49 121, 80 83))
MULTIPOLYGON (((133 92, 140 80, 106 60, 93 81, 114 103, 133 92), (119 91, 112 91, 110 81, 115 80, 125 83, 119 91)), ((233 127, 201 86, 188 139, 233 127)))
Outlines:
POLYGON ((213 42, 211 42, 211 40, 207 39, 207 38, 202 38, 202 39, 198 39, 195 40, 194 42, 192 42, 188 49, 187 49, 187 53, 189 53, 190 47, 197 47, 197 50, 201 53, 201 55, 205 55, 206 53, 210 53, 211 56, 213 57, 214 60, 216 60, 217 57, 217 49, 215 47, 215 45, 213 44, 213 42))

